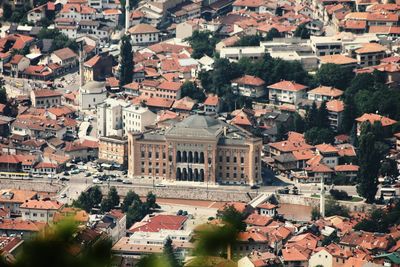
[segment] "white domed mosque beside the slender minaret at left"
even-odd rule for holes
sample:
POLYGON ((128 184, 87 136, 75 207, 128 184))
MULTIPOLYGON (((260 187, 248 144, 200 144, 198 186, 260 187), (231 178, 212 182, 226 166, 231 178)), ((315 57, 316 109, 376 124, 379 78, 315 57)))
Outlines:
POLYGON ((79 89, 79 107, 87 110, 96 108, 107 98, 105 82, 90 81, 79 89))

